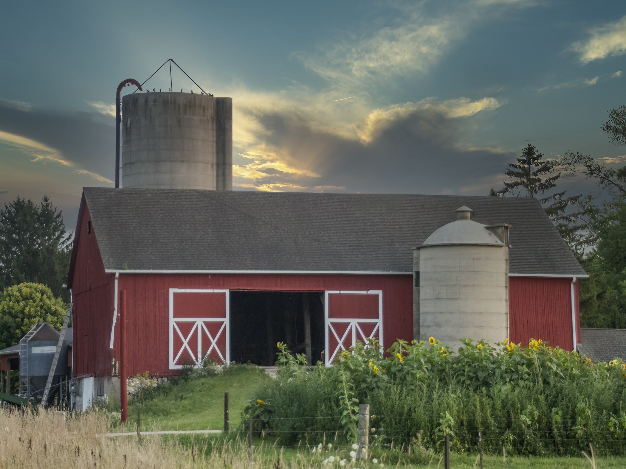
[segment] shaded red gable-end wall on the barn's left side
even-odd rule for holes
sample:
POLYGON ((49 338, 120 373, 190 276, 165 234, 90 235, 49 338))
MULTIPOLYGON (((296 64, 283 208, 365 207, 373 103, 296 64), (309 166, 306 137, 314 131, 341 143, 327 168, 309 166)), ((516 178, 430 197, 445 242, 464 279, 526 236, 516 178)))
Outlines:
POLYGON ((111 375, 109 349, 115 277, 105 273, 96 233, 85 198, 81 201, 74 242, 71 284, 73 297, 74 376, 111 375))

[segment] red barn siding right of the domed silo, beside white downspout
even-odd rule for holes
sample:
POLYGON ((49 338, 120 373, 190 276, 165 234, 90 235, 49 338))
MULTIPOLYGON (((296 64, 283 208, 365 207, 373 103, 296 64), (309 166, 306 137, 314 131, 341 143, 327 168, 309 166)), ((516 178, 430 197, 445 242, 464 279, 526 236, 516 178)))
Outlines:
MULTIPOLYGON (((573 350, 572 279, 511 277, 509 279, 509 338, 515 343, 541 339, 573 350)), ((578 305, 578 285, 575 285, 578 305)), ((578 308, 577 308, 578 316, 578 308)), ((577 324, 578 326, 578 324, 577 324)), ((580 337, 580 328, 577 331, 580 337)))

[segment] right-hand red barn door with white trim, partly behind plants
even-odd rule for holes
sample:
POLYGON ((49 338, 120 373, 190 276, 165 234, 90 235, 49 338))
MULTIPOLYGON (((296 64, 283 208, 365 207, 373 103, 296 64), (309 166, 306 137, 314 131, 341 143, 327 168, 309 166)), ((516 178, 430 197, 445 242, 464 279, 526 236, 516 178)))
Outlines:
POLYGON ((356 341, 377 338, 382 346, 382 291, 325 291, 326 366, 356 341))

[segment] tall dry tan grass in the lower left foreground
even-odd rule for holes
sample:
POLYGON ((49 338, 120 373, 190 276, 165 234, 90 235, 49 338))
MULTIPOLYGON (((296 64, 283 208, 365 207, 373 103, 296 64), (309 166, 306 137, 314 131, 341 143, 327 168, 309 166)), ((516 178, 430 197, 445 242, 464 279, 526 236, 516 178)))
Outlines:
POLYGON ((54 411, 38 413, 0 409, 0 468, 313 468, 321 463, 296 458, 285 463, 280 450, 255 450, 244 441, 216 440, 205 446, 182 446, 161 436, 105 436, 108 416, 91 411, 62 421, 54 411), (210 446, 208 446, 210 445, 210 446))

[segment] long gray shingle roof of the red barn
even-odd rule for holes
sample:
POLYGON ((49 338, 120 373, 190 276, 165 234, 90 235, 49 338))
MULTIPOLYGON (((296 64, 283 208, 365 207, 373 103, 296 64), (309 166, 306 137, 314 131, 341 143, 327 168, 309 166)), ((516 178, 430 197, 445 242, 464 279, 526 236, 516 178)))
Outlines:
MULTIPOLYGON (((413 270, 412 248, 456 219, 509 223, 510 272, 584 275, 530 198, 85 188, 106 270, 413 270)), ((84 235, 84 234, 83 234, 84 235)))

